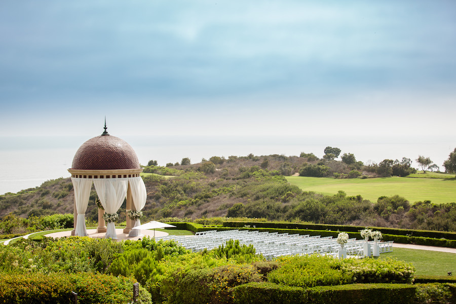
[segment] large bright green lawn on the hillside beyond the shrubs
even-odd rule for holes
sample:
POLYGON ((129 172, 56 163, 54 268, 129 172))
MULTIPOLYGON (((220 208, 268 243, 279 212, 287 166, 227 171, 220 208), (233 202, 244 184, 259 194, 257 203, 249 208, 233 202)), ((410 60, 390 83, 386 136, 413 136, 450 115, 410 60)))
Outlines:
POLYGON ((435 204, 456 202, 456 178, 409 178, 377 177, 346 178, 287 176, 288 182, 303 191, 315 191, 326 195, 343 190, 348 196, 361 195, 376 202, 378 197, 400 195, 410 203, 430 200, 435 204))

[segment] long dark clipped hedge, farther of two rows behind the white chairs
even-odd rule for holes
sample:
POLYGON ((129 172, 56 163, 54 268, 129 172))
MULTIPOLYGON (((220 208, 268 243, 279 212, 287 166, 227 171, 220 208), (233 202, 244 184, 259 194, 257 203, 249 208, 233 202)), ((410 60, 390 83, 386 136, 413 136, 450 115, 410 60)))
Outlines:
MULTIPOLYGON (((329 231, 345 231, 345 232, 359 232, 363 230, 364 226, 350 226, 350 225, 327 225, 327 224, 299 224, 299 223, 278 223, 278 222, 241 222, 241 221, 225 221, 223 226, 225 227, 244 227, 244 225, 250 225, 253 227, 264 227, 264 228, 278 228, 278 229, 303 229, 303 230, 329 230, 329 231)), ((386 228, 386 227, 370 227, 372 230, 381 231, 382 234, 391 234, 397 236, 413 236, 423 238, 434 238, 434 239, 447 239, 456 240, 455 232, 444 232, 444 231, 428 231, 428 230, 412 230, 412 229, 397 229, 397 228, 386 228)))

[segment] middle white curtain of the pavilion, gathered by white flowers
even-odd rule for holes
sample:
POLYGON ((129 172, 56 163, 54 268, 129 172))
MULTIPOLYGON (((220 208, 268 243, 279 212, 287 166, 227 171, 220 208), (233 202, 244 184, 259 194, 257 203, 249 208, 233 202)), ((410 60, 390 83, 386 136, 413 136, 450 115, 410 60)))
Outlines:
MULTIPOLYGON (((104 211, 108 214, 116 213, 122 206, 128 188, 127 178, 94 179, 95 190, 104 211)), ((116 225, 114 222, 106 224, 105 238, 117 239, 116 225)))

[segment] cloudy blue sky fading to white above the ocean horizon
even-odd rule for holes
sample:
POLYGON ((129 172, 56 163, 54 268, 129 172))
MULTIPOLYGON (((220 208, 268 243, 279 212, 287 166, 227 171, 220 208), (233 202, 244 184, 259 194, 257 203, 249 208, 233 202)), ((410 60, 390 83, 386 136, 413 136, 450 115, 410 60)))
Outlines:
POLYGON ((438 137, 456 2, 0 2, 0 136, 438 137))

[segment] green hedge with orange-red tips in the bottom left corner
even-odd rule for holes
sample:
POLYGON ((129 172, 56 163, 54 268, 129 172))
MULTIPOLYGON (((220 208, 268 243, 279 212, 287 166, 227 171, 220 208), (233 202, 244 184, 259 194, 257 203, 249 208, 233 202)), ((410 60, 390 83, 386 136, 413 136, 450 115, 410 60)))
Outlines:
MULTIPOLYGON (((125 304, 133 300, 133 278, 91 273, 0 274, 0 303, 69 303, 71 291, 78 303, 125 304)), ((139 303, 150 303, 140 287, 139 303)))

